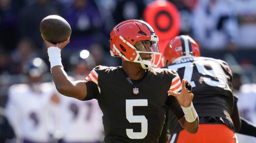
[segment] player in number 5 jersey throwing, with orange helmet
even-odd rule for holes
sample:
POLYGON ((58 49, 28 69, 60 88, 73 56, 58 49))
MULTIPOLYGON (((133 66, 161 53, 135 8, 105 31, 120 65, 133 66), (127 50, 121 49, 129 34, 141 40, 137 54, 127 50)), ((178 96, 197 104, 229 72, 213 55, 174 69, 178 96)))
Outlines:
POLYGON ((79 100, 97 99, 103 112, 105 143, 157 143, 167 105, 189 133, 198 130, 193 93, 172 69, 153 68, 160 62, 158 37, 142 20, 126 20, 110 33, 111 56, 122 66, 96 66, 85 80, 72 82, 61 63, 60 51, 69 43, 52 44, 42 36, 59 93, 79 100))

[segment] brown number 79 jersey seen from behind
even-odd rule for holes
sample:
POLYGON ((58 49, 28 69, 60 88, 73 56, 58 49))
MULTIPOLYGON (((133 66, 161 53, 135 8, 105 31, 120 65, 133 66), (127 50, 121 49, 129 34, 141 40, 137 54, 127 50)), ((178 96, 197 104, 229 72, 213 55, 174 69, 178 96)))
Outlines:
MULTIPOLYGON (((191 84, 194 94, 192 102, 200 124, 220 120, 234 130, 230 117, 234 106, 231 90, 232 73, 225 61, 191 57, 162 68, 176 70, 181 78, 188 80, 191 84)), ((168 113, 168 128, 171 134, 183 130, 172 112, 168 113)))

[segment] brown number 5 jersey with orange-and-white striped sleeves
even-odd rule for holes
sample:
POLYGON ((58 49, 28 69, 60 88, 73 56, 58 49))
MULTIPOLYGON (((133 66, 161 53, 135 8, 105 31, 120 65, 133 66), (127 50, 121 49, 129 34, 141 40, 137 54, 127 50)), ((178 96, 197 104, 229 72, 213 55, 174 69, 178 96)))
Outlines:
POLYGON ((87 96, 97 99, 103 112, 105 143, 157 143, 167 105, 177 118, 184 113, 168 90, 181 90, 175 70, 151 68, 139 84, 130 83, 122 67, 97 66, 86 78, 87 96))

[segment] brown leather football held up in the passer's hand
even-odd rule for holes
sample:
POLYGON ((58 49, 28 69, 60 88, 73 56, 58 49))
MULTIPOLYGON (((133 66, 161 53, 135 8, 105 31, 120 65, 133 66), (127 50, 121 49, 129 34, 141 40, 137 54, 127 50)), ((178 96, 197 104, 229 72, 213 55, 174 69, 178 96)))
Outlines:
POLYGON ((64 42, 72 32, 68 21, 58 15, 46 16, 40 23, 40 31, 53 44, 64 42))

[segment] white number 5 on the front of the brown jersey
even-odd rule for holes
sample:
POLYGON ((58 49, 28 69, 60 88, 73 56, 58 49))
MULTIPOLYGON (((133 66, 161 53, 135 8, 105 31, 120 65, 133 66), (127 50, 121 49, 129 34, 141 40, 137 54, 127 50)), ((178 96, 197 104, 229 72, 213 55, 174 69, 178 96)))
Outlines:
POLYGON ((144 115, 133 115, 133 106, 148 106, 147 99, 126 100, 126 118, 130 123, 141 123, 141 132, 133 132, 133 129, 126 129, 130 139, 143 139, 148 134, 148 120, 144 115))

